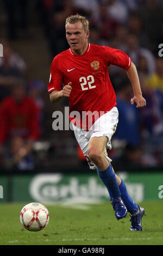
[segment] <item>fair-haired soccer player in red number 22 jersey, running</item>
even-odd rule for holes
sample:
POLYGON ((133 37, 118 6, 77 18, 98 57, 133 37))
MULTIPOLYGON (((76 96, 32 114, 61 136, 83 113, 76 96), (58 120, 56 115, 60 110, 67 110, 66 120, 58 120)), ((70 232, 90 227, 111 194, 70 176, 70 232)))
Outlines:
POLYGON ((141 219, 145 210, 131 199, 106 154, 106 148, 111 149, 111 137, 118 123, 116 95, 108 66, 117 65, 127 71, 134 92, 131 104, 135 102, 139 108, 146 105, 146 100, 141 93, 136 67, 121 50, 89 44, 89 21, 85 17, 67 17, 65 27, 70 48, 53 59, 48 84, 50 100, 58 102, 68 97, 74 135, 90 168, 97 169, 108 189, 117 220, 126 217, 128 211, 130 230, 142 230, 141 219))

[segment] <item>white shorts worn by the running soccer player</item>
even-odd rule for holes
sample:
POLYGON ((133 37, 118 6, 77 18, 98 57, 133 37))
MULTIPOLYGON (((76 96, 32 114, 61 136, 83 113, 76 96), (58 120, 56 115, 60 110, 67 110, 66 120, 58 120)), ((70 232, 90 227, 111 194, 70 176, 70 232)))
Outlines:
MULTIPOLYGON (((117 107, 113 107, 110 111, 103 114, 99 117, 96 122, 92 125, 89 131, 83 130, 81 127, 76 126, 72 123, 74 135, 77 139, 77 142, 80 148, 83 151, 84 156, 86 157, 87 162, 89 163, 90 169, 96 169, 96 166, 89 159, 89 155, 87 154, 87 148, 89 145, 90 138, 92 137, 102 137, 106 136, 108 138, 108 143, 106 144, 106 148, 111 149, 111 138, 116 131, 118 123, 118 109, 117 107)), ((107 151, 105 148, 105 157, 111 162, 111 159, 108 157, 107 151)))

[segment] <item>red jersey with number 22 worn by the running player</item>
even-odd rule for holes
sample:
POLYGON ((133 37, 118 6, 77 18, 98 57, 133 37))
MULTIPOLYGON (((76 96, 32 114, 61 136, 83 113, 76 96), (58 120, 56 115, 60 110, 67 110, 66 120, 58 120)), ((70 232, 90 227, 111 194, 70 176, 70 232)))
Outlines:
POLYGON ((88 125, 82 125, 83 112, 106 113, 116 106, 116 95, 108 74, 108 66, 111 64, 127 70, 131 60, 121 50, 93 44, 88 44, 82 56, 69 48, 53 59, 48 92, 61 90, 63 84, 72 82, 68 97, 70 120, 83 129, 89 130, 88 125), (73 111, 80 113, 80 122, 71 117, 73 111))

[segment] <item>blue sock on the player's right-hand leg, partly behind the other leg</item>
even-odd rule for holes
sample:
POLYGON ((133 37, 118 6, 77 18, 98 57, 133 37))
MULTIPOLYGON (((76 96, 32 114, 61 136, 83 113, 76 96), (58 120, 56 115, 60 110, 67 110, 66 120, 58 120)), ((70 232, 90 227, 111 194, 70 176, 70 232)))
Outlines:
POLYGON ((137 204, 135 204, 133 199, 131 199, 131 197, 129 196, 129 194, 127 192, 126 185, 124 184, 123 180, 122 180, 119 188, 121 191, 121 198, 122 198, 123 203, 126 206, 128 212, 130 212, 130 214, 134 214, 134 212, 139 210, 139 206, 137 204))

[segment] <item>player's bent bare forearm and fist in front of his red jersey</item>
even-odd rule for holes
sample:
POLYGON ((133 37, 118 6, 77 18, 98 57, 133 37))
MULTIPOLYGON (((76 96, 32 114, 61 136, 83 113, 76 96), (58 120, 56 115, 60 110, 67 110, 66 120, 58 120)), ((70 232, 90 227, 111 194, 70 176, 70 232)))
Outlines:
POLYGON ((60 101, 63 97, 69 97, 72 90, 71 85, 72 83, 69 82, 62 90, 53 90, 53 92, 49 94, 51 102, 55 103, 60 101))

